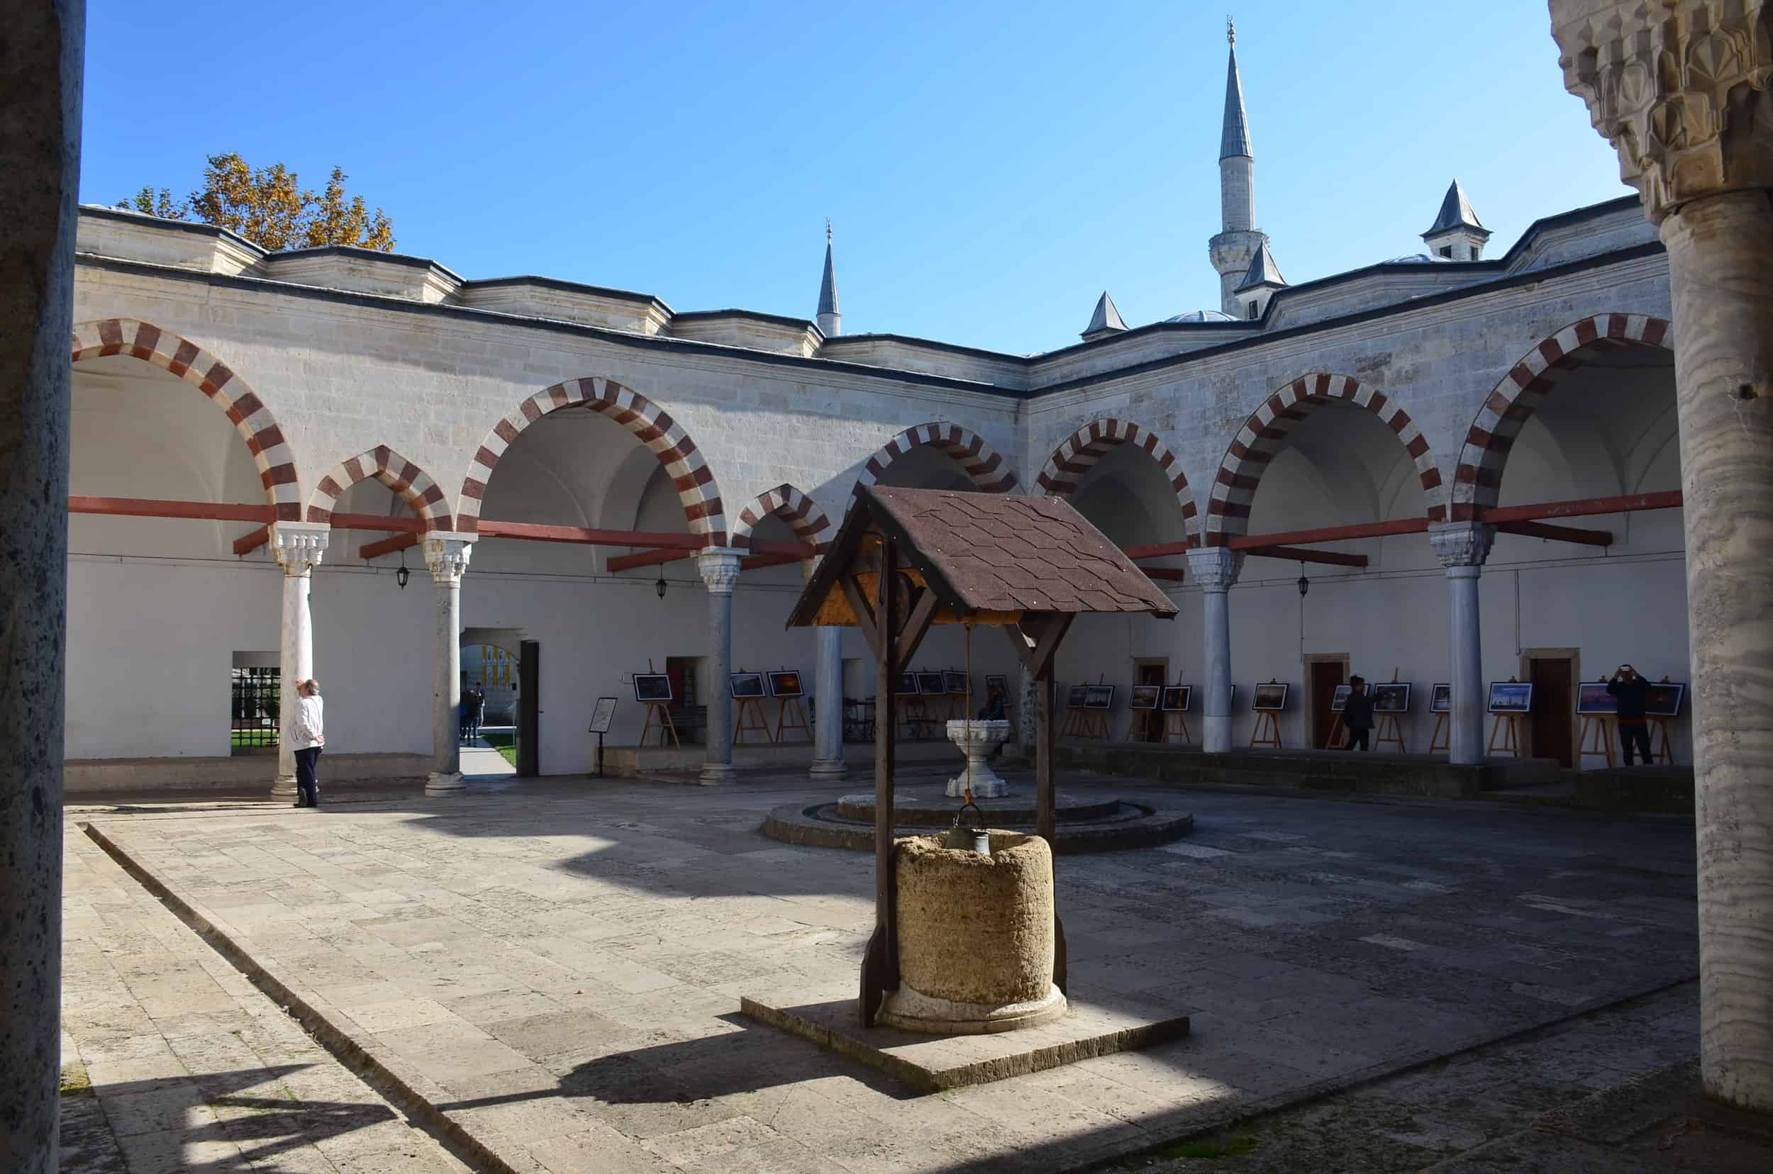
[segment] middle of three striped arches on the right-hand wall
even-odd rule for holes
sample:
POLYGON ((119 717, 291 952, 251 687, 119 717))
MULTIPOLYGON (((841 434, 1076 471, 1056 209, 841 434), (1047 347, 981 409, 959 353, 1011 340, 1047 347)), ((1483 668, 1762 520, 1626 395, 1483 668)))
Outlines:
POLYGON ((1250 419, 1238 431, 1238 438, 1230 442, 1207 498, 1207 525, 1206 534, 1200 536, 1206 546, 1223 546, 1229 539, 1248 530, 1250 500, 1255 497, 1255 486, 1268 463, 1287 443, 1293 427, 1332 399, 1358 404, 1392 429, 1397 442, 1404 445, 1404 452, 1415 461, 1417 479, 1429 502, 1429 521, 1447 520, 1447 507, 1438 491, 1441 475, 1434 466, 1434 454, 1429 452, 1429 442, 1410 413, 1379 388, 1353 376, 1312 372, 1269 395, 1261 408, 1250 413, 1250 419))

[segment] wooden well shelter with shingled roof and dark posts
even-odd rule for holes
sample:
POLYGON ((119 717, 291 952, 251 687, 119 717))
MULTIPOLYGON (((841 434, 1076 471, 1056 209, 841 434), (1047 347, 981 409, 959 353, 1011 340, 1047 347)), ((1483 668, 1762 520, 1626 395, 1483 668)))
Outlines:
MULTIPOLYGON (((874 651, 874 936, 860 1014, 872 1027, 899 988, 894 887, 894 692, 931 624, 1004 628, 1035 681, 1035 832, 1053 842, 1053 661, 1083 612, 1175 605, 1121 548, 1057 497, 860 486, 789 628, 855 626, 874 651)), ((1066 933, 1053 917, 1053 982, 1066 990, 1066 933)))

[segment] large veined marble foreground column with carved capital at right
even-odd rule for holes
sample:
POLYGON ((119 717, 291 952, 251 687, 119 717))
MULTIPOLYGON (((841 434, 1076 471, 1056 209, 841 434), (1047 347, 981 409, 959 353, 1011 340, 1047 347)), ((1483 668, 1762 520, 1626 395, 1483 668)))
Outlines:
POLYGON ((1553 0, 1564 85, 1668 248, 1700 1078, 1773 1112, 1773 39, 1761 0, 1553 0))

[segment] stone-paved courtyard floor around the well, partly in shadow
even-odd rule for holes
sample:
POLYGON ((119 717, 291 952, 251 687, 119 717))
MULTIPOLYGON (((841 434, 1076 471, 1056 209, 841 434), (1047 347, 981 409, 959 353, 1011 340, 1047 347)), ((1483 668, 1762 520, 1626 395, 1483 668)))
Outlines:
MULTIPOLYGON (((1062 786, 1195 812, 1181 842, 1058 860, 1073 998, 1184 1013, 1193 1034, 934 1096, 736 1014, 759 984, 853 990, 872 922, 867 855, 757 834, 769 807, 808 794, 800 780, 548 780, 69 819, 521 1170, 1074 1169, 1697 970, 1690 821, 1062 786)), ((83 883, 71 873, 71 899, 83 883)), ((90 965, 69 954, 74 1002, 90 965)), ((232 974, 216 956, 195 965, 232 974)), ((1642 1046, 1612 1039, 1578 1080, 1665 1066, 1691 1032, 1668 1016, 1690 1020, 1675 1007, 1642 1046)), ((74 1020, 69 1032, 78 1046, 74 1020)), ((1425 1139, 1425 1162, 1468 1147, 1425 1139)))

